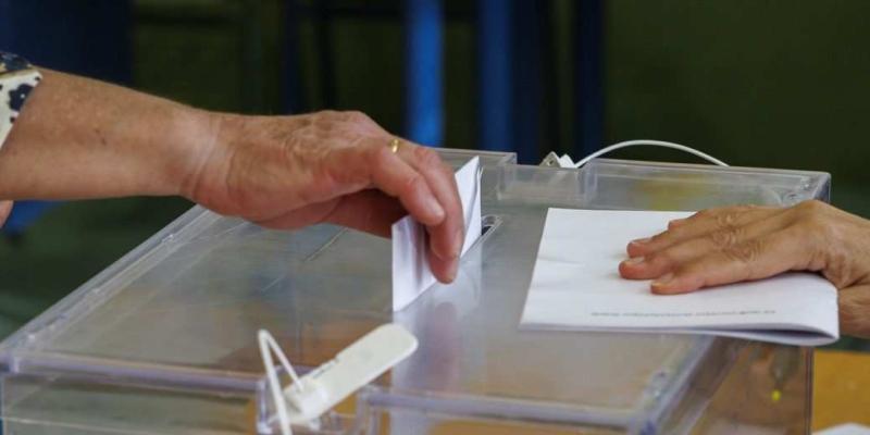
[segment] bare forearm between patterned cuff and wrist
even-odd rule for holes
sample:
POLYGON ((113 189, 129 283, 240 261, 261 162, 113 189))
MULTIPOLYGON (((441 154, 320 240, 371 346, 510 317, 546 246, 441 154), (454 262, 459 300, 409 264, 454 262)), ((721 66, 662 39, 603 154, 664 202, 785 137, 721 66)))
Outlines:
POLYGON ((0 199, 177 195, 213 137, 210 115, 40 69, 0 149, 0 199))

